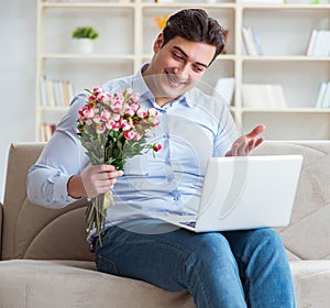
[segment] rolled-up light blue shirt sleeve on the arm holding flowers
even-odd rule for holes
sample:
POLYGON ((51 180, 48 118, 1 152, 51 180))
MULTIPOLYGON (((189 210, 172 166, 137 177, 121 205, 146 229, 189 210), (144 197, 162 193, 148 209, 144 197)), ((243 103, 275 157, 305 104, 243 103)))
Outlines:
POLYGON ((30 168, 28 197, 32 202, 50 208, 63 208, 76 201, 68 196, 67 183, 89 162, 77 135, 78 110, 85 103, 85 95, 75 97, 37 162, 30 168))

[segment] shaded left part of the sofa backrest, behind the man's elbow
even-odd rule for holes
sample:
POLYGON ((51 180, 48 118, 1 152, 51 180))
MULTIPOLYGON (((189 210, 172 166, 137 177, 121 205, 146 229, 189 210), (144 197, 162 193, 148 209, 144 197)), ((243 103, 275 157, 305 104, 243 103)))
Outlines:
POLYGON ((18 143, 9 150, 3 200, 2 260, 94 260, 86 241, 86 201, 64 209, 31 204, 26 175, 44 143, 18 143))

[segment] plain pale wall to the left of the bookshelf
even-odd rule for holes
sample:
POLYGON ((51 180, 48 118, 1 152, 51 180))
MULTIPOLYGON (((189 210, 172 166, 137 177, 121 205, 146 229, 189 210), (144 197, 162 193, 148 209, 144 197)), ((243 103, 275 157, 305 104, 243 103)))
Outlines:
POLYGON ((0 201, 11 142, 34 141, 36 1, 1 0, 0 201))

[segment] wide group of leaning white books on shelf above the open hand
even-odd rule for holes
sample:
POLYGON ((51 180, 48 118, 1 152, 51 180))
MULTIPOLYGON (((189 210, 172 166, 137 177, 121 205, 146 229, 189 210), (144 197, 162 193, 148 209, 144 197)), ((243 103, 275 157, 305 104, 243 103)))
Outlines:
POLYGON ((243 107, 270 109, 286 108, 286 101, 280 85, 245 84, 242 86, 243 107))

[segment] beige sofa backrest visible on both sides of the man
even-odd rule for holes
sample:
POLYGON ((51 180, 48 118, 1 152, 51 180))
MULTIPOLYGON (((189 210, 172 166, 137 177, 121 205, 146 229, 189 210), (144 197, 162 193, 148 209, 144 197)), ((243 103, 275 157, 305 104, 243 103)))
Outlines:
MULTIPOLYGON (((86 201, 47 209, 26 197, 28 169, 44 144, 10 147, 3 202, 2 258, 92 260, 86 241, 86 201)), ((265 142, 253 155, 302 154, 290 224, 278 229, 290 258, 330 258, 330 141, 265 142)), ((285 178, 283 179, 285 180, 285 178)))

